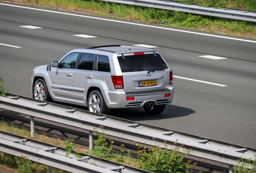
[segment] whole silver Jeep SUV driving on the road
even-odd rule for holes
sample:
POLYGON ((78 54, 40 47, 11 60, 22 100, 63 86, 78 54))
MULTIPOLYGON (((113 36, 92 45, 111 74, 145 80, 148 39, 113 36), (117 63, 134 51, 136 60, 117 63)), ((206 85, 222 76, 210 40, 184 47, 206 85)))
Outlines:
POLYGON ((95 113, 144 107, 159 114, 172 102, 172 70, 158 50, 138 46, 75 49, 33 70, 34 99, 88 107, 95 113))

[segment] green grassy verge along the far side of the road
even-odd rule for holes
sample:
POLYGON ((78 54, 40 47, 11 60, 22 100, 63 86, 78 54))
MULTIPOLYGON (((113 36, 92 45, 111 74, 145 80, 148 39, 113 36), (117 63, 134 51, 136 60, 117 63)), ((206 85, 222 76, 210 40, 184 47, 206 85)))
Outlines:
MULTIPOLYGON (((16 1, 16 0, 12 0, 16 1)), ((255 10, 256 0, 184 0, 197 2, 200 6, 224 6, 255 10), (240 5, 242 4, 242 6, 240 5)), ((22 4, 45 8, 87 12, 99 16, 135 20, 152 24, 163 24, 179 28, 189 28, 206 32, 256 38, 256 22, 246 22, 227 18, 202 16, 184 12, 161 10, 142 6, 116 4, 97 0, 19 0, 22 4), (165 21, 165 22, 161 22, 165 21)))

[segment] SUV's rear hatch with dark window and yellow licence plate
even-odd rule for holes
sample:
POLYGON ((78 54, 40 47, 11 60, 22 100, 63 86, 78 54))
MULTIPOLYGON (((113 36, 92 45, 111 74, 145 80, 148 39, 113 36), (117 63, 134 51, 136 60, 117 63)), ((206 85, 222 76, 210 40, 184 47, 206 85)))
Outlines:
POLYGON ((158 52, 118 54, 118 62, 126 93, 168 89, 171 69, 158 52))

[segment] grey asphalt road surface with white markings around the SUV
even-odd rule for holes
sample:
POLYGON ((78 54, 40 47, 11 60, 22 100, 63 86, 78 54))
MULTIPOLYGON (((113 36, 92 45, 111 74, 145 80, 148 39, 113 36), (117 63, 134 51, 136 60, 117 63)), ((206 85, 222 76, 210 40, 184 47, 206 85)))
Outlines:
POLYGON ((0 2, 0 77, 10 93, 32 97, 35 66, 109 44, 155 47, 175 87, 160 115, 129 108, 112 116, 256 146, 256 40, 0 2))

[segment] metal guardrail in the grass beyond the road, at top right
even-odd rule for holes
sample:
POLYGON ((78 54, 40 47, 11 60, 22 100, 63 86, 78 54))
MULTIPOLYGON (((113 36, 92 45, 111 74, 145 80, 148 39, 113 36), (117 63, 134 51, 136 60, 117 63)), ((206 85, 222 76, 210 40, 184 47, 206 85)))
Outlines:
POLYGON ((170 1, 157 1, 157 0, 101 0, 107 2, 121 3, 121 4, 130 4, 136 6, 145 6, 151 8, 159 8, 164 10, 188 12, 192 14, 200 14, 206 16, 215 16, 221 18, 231 18, 236 20, 245 20, 250 22, 256 22, 256 13, 245 11, 237 11, 233 9, 216 9, 208 7, 200 7, 195 5, 186 5, 170 1))

